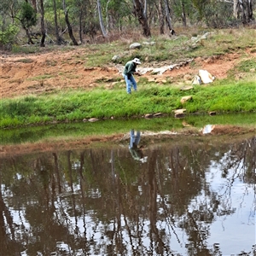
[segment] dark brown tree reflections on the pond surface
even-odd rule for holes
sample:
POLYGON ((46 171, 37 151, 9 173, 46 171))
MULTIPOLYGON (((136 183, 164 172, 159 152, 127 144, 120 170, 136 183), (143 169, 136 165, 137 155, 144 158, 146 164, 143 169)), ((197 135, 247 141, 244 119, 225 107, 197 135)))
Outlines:
POLYGON ((229 201, 234 180, 255 184, 255 138, 222 145, 218 152, 207 147, 148 149, 144 164, 120 148, 1 161, 2 183, 13 196, 1 193, 0 254, 26 249, 28 255, 168 255, 171 239, 182 246, 181 228, 189 255, 217 255, 207 245, 209 226, 215 216, 236 211, 229 201), (227 180, 221 197, 206 180, 213 160, 227 180), (21 224, 14 223, 14 209, 24 213, 21 224))

